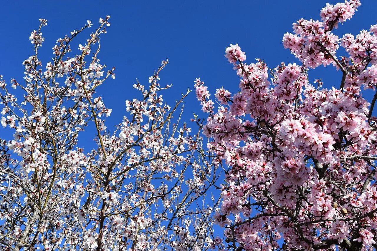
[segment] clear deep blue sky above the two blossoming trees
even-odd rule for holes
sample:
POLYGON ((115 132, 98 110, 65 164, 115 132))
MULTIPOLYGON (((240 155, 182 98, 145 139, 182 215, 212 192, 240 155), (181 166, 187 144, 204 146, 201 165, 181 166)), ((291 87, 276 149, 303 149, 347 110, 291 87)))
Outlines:
MULTIPOLYGON (((98 89, 98 95, 113 109, 107 118, 110 129, 126 114, 124 101, 136 96, 132 89, 135 78, 148 84, 148 77, 166 58, 170 64, 161 74, 161 83, 173 83, 164 93, 169 103, 187 88, 193 89, 196 77, 205 81, 212 94, 221 86, 236 92, 239 78, 224 57, 230 43, 241 46, 248 63, 254 58, 262 58, 270 68, 282 61, 299 63, 283 48, 282 36, 291 32, 292 23, 301 17, 319 19, 326 2, 338 1, 3 1, 0 74, 8 83, 11 78, 22 81, 21 63, 32 54, 28 37, 38 28, 39 18, 48 20, 41 48, 45 64, 52 57, 57 38, 80 28, 86 20, 97 25, 100 17, 110 15, 111 26, 101 40, 100 58, 107 66, 116 67, 116 79, 98 89)), ((362 0, 356 15, 335 33, 341 36, 369 29, 377 23, 376 9, 377 1, 362 0)), ((85 40, 76 40, 73 55, 85 40)), ((331 66, 319 67, 310 70, 309 77, 310 81, 322 78, 325 86, 339 86, 341 73, 331 66)), ((192 112, 205 116, 194 93, 186 104, 185 118, 191 118, 192 112)))

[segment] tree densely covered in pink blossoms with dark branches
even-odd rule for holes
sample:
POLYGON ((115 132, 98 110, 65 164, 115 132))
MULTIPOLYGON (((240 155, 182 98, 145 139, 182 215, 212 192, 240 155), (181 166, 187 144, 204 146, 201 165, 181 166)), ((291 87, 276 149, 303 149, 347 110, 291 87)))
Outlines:
POLYGON ((225 57, 240 92, 216 90, 199 78, 196 95, 208 112, 204 133, 218 163, 229 168, 216 222, 232 250, 373 250, 377 248, 377 25, 339 38, 359 0, 327 4, 321 21, 300 19, 284 47, 302 66, 270 70, 246 64, 230 45, 225 57), (340 57, 342 46, 347 55, 340 57), (333 65, 339 85, 308 81, 308 69, 333 65), (375 92, 371 101, 361 90, 375 92))

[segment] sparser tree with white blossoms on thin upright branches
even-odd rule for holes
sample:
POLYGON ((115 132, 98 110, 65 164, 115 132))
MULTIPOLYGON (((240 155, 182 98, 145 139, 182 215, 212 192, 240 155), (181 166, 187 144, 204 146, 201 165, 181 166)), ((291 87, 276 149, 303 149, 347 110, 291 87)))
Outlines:
MULTIPOLYGON (((181 122, 182 99, 170 107, 159 95, 159 73, 137 82, 139 99, 126 101, 128 115, 110 132, 112 112, 95 90, 115 68, 100 63, 100 19, 78 55, 70 45, 80 30, 57 40, 44 66, 38 52, 41 29, 30 41, 34 54, 23 62, 25 81, 1 77, 1 124, 14 139, 0 142, 1 250, 205 250, 215 245, 213 208, 206 197, 218 178, 204 158, 199 133, 181 122), (18 94, 18 96, 17 96, 18 94), (97 145, 79 148, 89 125, 97 145)), ((1 133, 2 137, 5 133, 1 133)))

